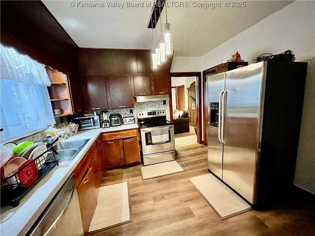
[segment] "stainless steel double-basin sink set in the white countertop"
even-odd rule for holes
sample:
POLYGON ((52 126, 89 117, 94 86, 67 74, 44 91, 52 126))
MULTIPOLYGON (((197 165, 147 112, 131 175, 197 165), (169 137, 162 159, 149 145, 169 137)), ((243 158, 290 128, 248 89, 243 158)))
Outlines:
POLYGON ((55 145, 54 148, 58 152, 56 158, 59 159, 59 164, 72 161, 89 140, 90 139, 66 141, 55 145))

